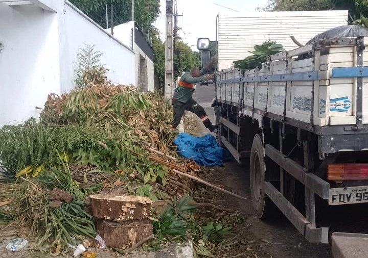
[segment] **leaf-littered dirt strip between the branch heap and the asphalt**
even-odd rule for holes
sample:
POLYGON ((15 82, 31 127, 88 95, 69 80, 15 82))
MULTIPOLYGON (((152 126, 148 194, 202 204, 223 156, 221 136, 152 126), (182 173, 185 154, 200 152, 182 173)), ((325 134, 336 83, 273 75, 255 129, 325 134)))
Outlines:
MULTIPOLYGON (((184 117, 184 131, 193 136, 201 136, 209 132, 204 130, 198 119, 192 115, 184 117)), ((199 175, 213 184, 222 185, 221 174, 226 173, 224 166, 204 167, 201 166, 199 175)), ((225 175, 226 176, 226 175, 225 175)), ((218 190, 196 184, 194 193, 198 205, 196 219, 201 224, 212 221, 221 223, 224 226, 232 226, 231 235, 220 240, 212 246, 212 253, 215 257, 272 257, 264 252, 259 246, 259 241, 268 242, 265 239, 257 239, 252 234, 249 227, 248 215, 239 212, 238 200, 218 190)), ((274 257, 274 256, 273 256, 274 257)))

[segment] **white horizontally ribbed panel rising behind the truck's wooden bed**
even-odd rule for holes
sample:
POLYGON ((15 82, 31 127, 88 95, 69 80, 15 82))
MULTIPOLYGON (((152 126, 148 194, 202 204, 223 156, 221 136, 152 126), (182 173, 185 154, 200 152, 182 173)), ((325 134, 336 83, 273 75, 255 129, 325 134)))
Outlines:
POLYGON ((220 16, 218 21, 219 70, 233 66, 266 40, 297 48, 290 35, 305 44, 315 35, 347 25, 348 11, 259 12, 220 16))

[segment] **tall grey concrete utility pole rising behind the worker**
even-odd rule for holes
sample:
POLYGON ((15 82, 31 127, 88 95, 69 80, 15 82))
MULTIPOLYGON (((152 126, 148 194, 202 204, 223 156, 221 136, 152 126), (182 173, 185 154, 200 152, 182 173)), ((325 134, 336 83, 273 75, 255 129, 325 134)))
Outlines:
POLYGON ((173 0, 166 0, 165 99, 172 101, 174 84, 173 0))

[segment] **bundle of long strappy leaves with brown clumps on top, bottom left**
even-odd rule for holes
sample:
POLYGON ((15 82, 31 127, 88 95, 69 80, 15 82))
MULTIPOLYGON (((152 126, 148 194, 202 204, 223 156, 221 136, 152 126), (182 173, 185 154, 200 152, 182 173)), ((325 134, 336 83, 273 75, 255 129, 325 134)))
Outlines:
POLYGON ((92 216, 79 200, 87 195, 67 169, 53 168, 37 179, 0 184, 0 224, 13 223, 27 233, 34 250, 58 255, 69 245, 95 238, 92 216), (62 190, 62 189, 65 190, 62 190))

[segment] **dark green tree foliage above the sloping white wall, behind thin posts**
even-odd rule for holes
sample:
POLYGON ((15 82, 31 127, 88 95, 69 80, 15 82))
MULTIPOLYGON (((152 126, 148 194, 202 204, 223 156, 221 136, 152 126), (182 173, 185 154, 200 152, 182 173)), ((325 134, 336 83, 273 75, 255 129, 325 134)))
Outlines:
MULTIPOLYGON (((106 5, 109 16, 111 4, 113 5, 114 25, 132 19, 132 0, 71 0, 71 2, 102 28, 106 28, 106 5)), ((134 20, 144 33, 151 28, 151 23, 156 20, 159 12, 159 0, 134 0, 134 20)), ((108 27, 111 27, 110 22, 109 19, 108 27)))

